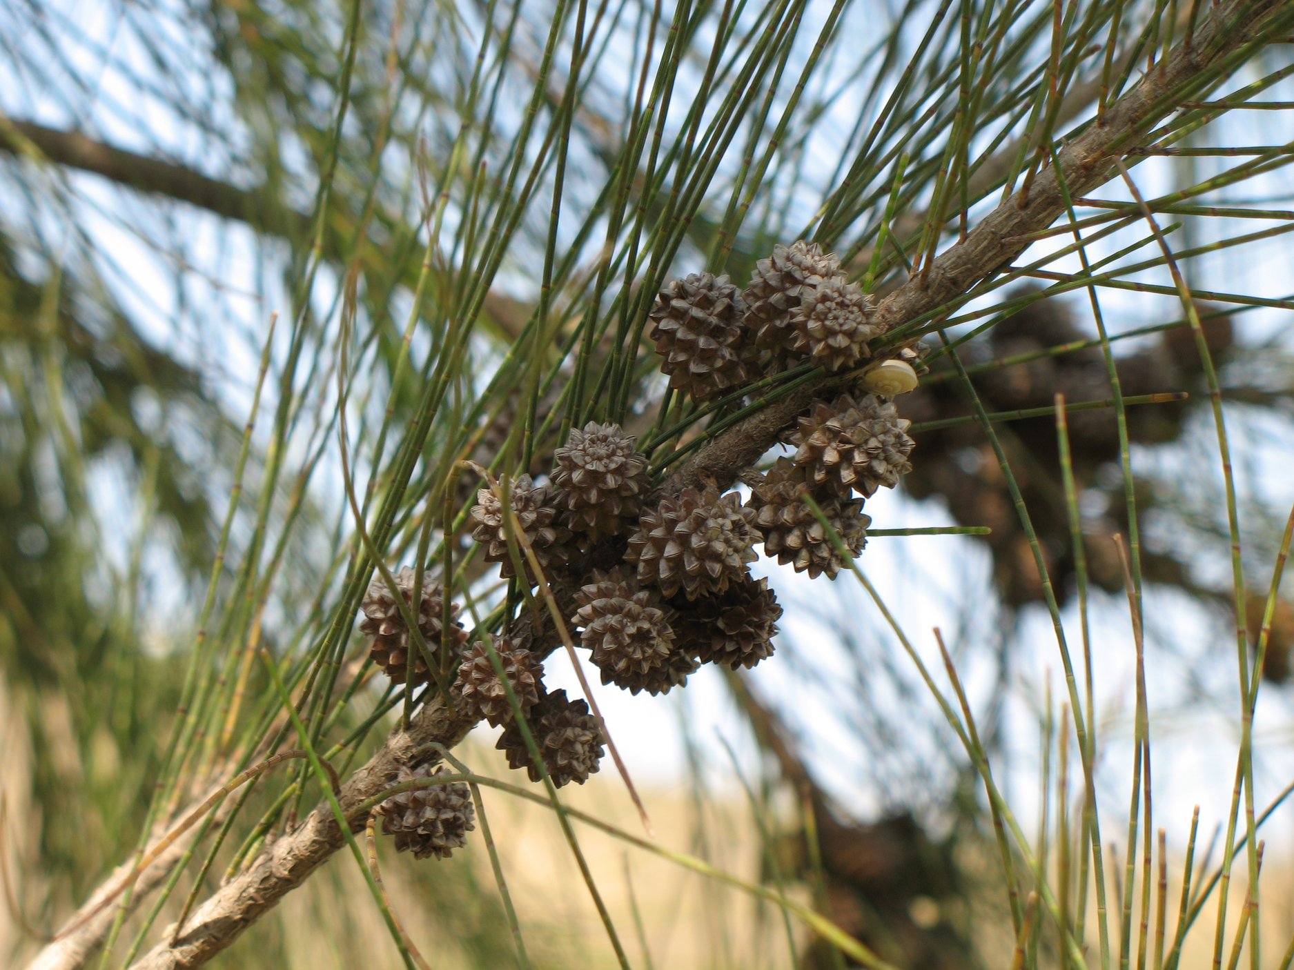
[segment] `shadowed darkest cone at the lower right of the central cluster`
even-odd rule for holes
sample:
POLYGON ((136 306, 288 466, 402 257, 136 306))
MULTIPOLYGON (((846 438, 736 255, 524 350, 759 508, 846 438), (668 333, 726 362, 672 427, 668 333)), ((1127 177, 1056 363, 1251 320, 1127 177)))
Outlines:
POLYGON ((701 663, 738 670, 773 656, 782 607, 767 579, 748 578, 722 596, 679 607, 675 629, 679 647, 701 663))

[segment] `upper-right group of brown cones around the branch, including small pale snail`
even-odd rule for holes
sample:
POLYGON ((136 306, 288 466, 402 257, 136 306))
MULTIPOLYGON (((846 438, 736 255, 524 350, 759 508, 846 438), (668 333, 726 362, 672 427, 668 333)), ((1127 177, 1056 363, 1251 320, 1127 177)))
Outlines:
MULTIPOLYGON (((836 257, 804 241, 760 260, 744 292, 709 273, 673 281, 657 296, 651 321, 670 387, 699 402, 801 363, 858 367, 871 358, 867 343, 881 332, 870 297, 836 257)), ((760 476, 747 502, 769 556, 835 578, 842 552, 862 551, 871 521, 863 501, 883 485, 893 488, 910 468, 910 422, 888 398, 916 385, 912 365, 919 362, 908 348, 877 361, 861 380, 872 393, 815 401, 800 419, 791 436, 795 457, 760 476)))

